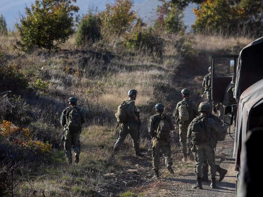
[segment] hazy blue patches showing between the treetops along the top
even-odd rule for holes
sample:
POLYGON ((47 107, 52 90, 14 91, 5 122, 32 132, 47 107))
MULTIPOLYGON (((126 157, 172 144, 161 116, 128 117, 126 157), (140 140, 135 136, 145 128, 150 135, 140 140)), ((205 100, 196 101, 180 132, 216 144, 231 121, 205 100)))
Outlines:
MULTIPOLYGON (((2 14, 7 23, 7 27, 11 30, 14 29, 15 23, 19 22, 19 17, 24 15, 25 6, 28 7, 35 2, 35 0, 0 0, 0 14, 2 14)), ((106 3, 115 2, 114 0, 77 0, 75 5, 80 7, 79 14, 86 14, 89 8, 96 8, 98 11, 105 9, 106 3)), ((156 19, 156 8, 161 5, 158 0, 134 0, 133 10, 138 12, 138 15, 146 22, 156 19)), ((195 15, 193 13, 194 4, 189 5, 185 10, 184 22, 186 25, 191 26, 194 24, 195 15)))

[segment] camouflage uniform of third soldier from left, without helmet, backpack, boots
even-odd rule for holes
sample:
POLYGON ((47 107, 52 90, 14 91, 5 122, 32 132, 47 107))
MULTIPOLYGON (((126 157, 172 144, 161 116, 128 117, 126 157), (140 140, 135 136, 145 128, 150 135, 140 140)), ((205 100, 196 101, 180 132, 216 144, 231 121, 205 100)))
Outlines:
MULTIPOLYGON (((153 138, 153 170, 158 170, 159 169, 159 164, 160 164, 160 151, 162 149, 162 155, 165 158, 165 164, 166 166, 168 164, 172 165, 172 159, 171 159, 171 150, 170 150, 170 144, 169 144, 169 139, 158 139, 157 136, 157 129, 159 126, 158 120, 160 120, 162 115, 162 112, 158 112, 157 114, 151 116, 150 121, 149 121, 149 134, 153 138)), ((175 126, 170 118, 169 115, 165 115, 166 120, 168 121, 170 125, 171 130, 175 130, 175 126)))

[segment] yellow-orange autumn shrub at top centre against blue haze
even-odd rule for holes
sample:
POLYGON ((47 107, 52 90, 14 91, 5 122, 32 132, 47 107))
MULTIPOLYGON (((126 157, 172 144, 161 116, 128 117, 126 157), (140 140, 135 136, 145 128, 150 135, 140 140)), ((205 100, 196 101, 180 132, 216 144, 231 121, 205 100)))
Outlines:
POLYGON ((132 3, 132 0, 116 0, 112 5, 106 4, 106 10, 100 14, 103 35, 119 37, 131 28, 136 20, 132 3))

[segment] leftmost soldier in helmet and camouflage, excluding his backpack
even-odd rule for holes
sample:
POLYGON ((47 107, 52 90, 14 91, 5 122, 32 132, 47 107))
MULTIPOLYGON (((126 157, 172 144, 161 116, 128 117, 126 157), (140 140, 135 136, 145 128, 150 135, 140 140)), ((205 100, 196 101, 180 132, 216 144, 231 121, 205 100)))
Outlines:
POLYGON ((80 114, 80 121, 81 125, 85 123, 85 116, 82 110, 79 107, 76 107, 77 98, 71 97, 68 99, 68 106, 66 109, 63 110, 61 117, 60 117, 60 123, 64 128, 64 136, 65 136, 65 142, 64 142, 64 149, 67 157, 68 164, 72 163, 72 153, 71 148, 73 146, 74 150, 74 156, 75 156, 75 164, 79 163, 79 155, 80 155, 80 132, 81 128, 75 131, 69 131, 67 126, 67 121, 69 118, 70 111, 75 108, 79 114, 80 114))

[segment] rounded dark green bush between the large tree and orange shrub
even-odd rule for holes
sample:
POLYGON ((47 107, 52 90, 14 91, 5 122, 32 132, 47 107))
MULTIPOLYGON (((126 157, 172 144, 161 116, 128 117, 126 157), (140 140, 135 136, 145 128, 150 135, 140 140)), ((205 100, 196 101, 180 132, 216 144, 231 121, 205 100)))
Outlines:
POLYGON ((78 26, 75 36, 77 46, 83 46, 88 42, 94 42, 101 37, 100 32, 101 20, 97 15, 92 15, 90 12, 86 15, 78 26))

